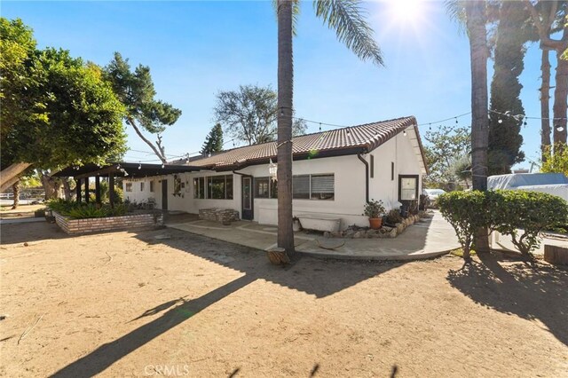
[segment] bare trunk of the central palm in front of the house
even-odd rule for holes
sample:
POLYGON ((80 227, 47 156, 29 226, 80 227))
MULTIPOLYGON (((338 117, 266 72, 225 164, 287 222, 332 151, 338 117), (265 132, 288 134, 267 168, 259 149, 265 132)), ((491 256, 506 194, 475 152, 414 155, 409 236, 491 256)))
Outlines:
POLYGON ((292 230, 292 104, 294 59, 292 1, 278 0, 278 247, 293 255, 292 230))

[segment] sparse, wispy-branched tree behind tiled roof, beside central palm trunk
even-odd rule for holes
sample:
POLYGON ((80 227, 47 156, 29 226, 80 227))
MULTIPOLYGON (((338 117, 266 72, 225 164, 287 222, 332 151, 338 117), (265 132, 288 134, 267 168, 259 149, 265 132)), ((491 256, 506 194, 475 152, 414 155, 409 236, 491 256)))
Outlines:
MULTIPOLYGON (((278 95, 272 88, 241 85, 238 91, 219 91, 213 109, 217 122, 225 124, 231 137, 257 145, 272 142, 276 136, 278 95)), ((306 123, 296 119, 292 135, 302 135, 306 123)))

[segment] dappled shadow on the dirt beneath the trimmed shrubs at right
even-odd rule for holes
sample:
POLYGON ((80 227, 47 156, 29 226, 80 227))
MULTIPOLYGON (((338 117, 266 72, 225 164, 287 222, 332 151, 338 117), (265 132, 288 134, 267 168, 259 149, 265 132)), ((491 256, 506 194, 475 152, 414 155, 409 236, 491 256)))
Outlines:
POLYGON ((480 263, 448 272, 449 283, 476 303, 523 319, 538 319, 568 345, 568 270, 554 265, 511 262, 499 253, 479 254, 480 263))

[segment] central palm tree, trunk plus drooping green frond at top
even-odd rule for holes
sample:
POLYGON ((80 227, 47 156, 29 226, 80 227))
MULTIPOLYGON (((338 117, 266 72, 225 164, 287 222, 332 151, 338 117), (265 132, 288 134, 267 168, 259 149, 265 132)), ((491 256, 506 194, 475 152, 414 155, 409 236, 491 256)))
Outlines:
MULTIPOLYGON (((278 15, 278 247, 295 253, 292 231, 292 116, 294 112, 294 59, 292 37, 299 0, 277 0, 278 15)), ((316 16, 335 29, 337 39, 359 59, 383 65, 381 49, 373 39, 359 0, 316 0, 316 16)))

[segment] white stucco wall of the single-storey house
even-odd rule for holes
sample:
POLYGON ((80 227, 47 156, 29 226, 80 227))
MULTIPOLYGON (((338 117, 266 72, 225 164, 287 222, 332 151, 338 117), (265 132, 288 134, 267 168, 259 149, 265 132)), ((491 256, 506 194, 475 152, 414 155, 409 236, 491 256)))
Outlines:
MULTIPOLYGON (((398 175, 418 175, 419 190, 422 191, 422 171, 415 146, 414 130, 407 130, 406 136, 398 134, 383 146, 363 155, 370 163, 374 155, 374 177, 369 179, 369 198, 382 200, 387 209, 392 209, 398 202, 398 175), (414 142, 413 142, 414 140, 414 142), (391 179, 390 163, 394 162, 394 179, 391 179)), ((268 177, 268 164, 240 169, 238 172, 253 177, 268 177)), ((357 155, 338 156, 304 161, 294 161, 293 175, 333 173, 335 180, 334 200, 293 200, 293 214, 326 214, 342 219, 342 227, 351 224, 368 225, 363 217, 365 205, 365 165, 357 155)), ((182 173, 178 177, 185 183, 181 196, 173 195, 174 177, 148 177, 144 179, 145 190, 140 192, 140 180, 133 181, 132 192, 124 193, 130 201, 147 201, 154 197, 157 208, 162 209, 162 179, 168 180, 168 209, 198 213, 199 209, 222 208, 235 209, 241 214, 241 175, 233 175, 233 200, 209 200, 193 198, 193 178, 231 175, 232 172, 201 171, 182 173), (150 193, 149 181, 154 179, 154 193, 150 193)), ((127 180, 124 180, 126 183, 127 180)), ((124 185, 125 186, 125 185, 124 185)), ((124 189, 124 188, 123 188, 124 189)), ((260 224, 277 224, 278 203, 276 199, 255 199, 254 220, 260 224)))

